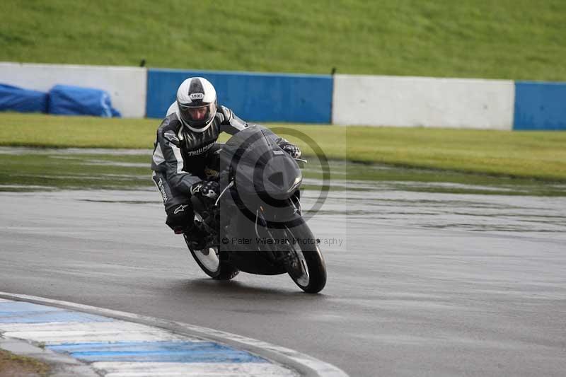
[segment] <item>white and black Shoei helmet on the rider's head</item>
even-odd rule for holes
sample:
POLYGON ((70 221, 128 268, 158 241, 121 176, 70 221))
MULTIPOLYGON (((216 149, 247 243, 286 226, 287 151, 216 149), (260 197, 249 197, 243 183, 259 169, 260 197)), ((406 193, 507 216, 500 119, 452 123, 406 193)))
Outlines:
POLYGON ((216 115, 216 90, 202 77, 190 77, 177 90, 178 116, 194 132, 204 132, 216 115))

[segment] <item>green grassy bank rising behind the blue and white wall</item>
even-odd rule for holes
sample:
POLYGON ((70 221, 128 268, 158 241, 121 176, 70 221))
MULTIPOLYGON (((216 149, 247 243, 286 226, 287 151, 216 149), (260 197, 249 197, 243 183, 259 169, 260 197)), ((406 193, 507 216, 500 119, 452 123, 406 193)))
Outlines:
POLYGON ((3 0, 0 61, 566 80, 563 0, 3 0))

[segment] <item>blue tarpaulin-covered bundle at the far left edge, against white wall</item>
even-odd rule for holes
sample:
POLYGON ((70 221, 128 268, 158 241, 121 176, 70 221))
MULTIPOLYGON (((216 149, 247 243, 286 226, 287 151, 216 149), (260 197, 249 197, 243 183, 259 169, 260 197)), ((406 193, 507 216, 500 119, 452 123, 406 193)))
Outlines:
POLYGON ((47 93, 0 84, 0 111, 47 112, 47 93))

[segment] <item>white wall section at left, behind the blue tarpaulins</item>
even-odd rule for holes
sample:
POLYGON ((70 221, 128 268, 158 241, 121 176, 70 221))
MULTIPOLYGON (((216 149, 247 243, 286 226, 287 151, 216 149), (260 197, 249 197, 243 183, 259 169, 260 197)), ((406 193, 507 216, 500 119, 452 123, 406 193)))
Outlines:
POLYGON ((146 112, 145 68, 0 62, 0 83, 37 91, 57 84, 102 89, 123 117, 141 118, 146 112))

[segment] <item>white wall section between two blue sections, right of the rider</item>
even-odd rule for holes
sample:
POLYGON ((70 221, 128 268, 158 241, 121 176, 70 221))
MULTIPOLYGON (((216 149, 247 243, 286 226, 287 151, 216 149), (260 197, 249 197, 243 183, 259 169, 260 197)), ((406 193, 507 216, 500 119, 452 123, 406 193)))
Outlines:
POLYGON ((513 81, 342 75, 333 124, 512 129, 513 81))

